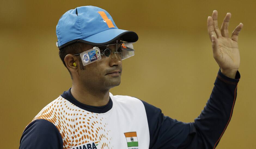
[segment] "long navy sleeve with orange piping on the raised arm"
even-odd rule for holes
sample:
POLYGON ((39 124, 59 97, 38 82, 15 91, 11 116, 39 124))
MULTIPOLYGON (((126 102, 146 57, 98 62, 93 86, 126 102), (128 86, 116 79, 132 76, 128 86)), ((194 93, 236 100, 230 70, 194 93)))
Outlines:
POLYGON ((150 148, 215 148, 230 122, 239 79, 238 71, 236 78, 231 79, 219 70, 206 106, 191 123, 164 116, 159 108, 142 101, 147 113, 150 148))

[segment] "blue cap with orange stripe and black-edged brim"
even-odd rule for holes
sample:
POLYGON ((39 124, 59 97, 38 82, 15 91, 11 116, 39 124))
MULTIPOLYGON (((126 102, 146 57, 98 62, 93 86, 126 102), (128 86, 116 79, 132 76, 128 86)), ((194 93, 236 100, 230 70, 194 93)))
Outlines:
POLYGON ((95 6, 82 6, 67 11, 60 17, 56 35, 59 49, 75 42, 100 46, 119 37, 127 42, 138 40, 135 32, 118 29, 111 15, 95 6))

